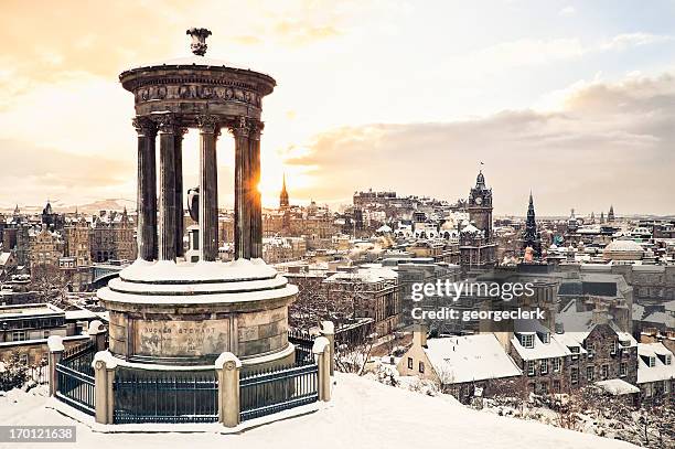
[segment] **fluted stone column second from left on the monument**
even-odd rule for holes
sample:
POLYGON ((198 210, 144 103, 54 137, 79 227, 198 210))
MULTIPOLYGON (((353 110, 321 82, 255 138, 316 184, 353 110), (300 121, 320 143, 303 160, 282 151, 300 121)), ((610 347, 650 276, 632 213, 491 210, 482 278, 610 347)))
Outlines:
POLYGON ((160 133, 159 259, 175 260, 175 140, 179 127, 172 115, 158 118, 160 133))

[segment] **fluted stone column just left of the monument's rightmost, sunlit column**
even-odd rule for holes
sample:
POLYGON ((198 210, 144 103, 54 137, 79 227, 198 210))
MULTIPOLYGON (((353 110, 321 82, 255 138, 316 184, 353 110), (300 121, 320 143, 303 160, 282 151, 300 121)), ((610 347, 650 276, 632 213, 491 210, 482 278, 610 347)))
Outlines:
POLYGON ((235 259, 250 259, 250 146, 249 122, 239 117, 235 137, 235 259))

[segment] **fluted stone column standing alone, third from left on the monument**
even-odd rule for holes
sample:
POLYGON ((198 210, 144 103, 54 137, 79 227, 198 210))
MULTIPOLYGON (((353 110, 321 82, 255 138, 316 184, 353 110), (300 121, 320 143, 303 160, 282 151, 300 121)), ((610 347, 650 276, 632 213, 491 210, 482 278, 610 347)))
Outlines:
POLYGON ((200 128, 200 254, 201 260, 218 256, 218 170, 216 140, 219 133, 216 116, 197 117, 200 128))

